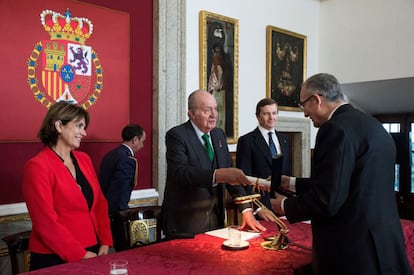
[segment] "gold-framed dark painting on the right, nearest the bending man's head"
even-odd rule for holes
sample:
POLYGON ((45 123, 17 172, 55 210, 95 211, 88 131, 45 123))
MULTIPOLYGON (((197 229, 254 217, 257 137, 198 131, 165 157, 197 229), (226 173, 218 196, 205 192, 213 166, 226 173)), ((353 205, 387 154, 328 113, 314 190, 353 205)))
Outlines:
POLYGON ((306 79, 306 36, 273 26, 266 29, 266 96, 279 110, 301 111, 299 96, 306 79))

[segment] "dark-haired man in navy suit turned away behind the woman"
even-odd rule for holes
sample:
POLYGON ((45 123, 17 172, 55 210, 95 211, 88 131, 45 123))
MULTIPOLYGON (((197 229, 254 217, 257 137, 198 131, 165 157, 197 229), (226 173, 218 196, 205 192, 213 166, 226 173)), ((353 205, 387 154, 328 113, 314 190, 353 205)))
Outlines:
POLYGON ((131 192, 136 185, 138 162, 135 153, 144 147, 145 131, 137 124, 122 130, 122 144, 108 152, 99 169, 99 183, 109 205, 109 215, 128 209, 131 192))

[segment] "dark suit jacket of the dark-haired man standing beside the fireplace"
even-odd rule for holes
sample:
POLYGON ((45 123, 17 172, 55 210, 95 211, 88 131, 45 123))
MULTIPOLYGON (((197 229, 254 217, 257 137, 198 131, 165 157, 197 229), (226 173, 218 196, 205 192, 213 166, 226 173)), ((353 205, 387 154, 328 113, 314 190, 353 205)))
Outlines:
MULTIPOLYGON (((278 132, 276 132, 276 135, 282 149, 282 152, 278 153, 283 154, 282 175, 290 176, 292 174, 292 164, 289 137, 278 132)), ((269 145, 258 127, 239 138, 236 166, 248 176, 266 179, 272 175, 272 156, 270 155, 269 145)), ((252 192, 251 187, 247 187, 247 192, 252 192)), ((260 201, 267 208, 272 209, 269 192, 265 192, 260 201)))

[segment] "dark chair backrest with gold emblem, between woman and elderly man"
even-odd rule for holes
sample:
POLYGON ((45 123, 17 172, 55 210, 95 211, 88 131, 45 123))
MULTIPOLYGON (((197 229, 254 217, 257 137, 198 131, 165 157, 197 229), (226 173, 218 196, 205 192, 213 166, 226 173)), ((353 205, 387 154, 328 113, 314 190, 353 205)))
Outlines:
POLYGON ((122 251, 161 240, 161 206, 140 206, 116 213, 114 247, 122 251))

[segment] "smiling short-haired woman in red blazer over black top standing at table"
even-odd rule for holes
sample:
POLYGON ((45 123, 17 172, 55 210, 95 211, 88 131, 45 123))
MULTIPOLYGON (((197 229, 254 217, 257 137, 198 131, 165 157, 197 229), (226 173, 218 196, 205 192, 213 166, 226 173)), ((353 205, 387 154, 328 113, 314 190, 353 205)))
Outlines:
POLYGON ((52 105, 39 138, 45 145, 23 173, 32 220, 30 269, 108 254, 108 204, 90 157, 79 151, 89 114, 67 102, 52 105))

